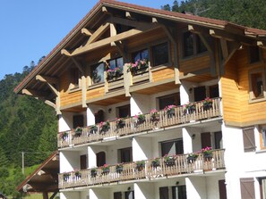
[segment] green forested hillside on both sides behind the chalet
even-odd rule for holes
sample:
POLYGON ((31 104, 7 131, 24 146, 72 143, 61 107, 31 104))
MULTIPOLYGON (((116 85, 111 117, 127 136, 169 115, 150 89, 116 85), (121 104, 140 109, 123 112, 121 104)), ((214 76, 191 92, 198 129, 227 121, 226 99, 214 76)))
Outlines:
MULTIPOLYGON (((266 29, 265 0, 174 1, 161 9, 266 29)), ((21 198, 14 190, 25 178, 21 174, 21 153, 25 152, 27 167, 41 163, 56 150, 55 111, 33 97, 13 93, 34 67, 31 62, 21 73, 7 74, 0 80, 0 192, 13 198, 21 198)))

